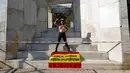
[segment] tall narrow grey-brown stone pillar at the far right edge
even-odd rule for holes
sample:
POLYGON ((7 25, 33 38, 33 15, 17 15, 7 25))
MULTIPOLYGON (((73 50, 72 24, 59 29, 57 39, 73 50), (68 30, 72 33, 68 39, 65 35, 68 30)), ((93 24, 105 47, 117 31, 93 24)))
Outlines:
POLYGON ((127 0, 120 1, 121 40, 123 53, 123 69, 130 69, 130 35, 127 0))

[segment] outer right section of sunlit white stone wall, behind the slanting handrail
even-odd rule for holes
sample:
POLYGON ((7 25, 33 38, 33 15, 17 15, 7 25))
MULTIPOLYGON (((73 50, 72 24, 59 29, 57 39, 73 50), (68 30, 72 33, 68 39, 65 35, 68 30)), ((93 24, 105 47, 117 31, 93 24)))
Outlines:
MULTIPOLYGON (((101 43, 99 50, 108 51, 121 41, 119 0, 99 0, 99 7, 101 41, 114 42, 101 43)), ((109 59, 123 62, 121 43, 109 52, 109 59)))

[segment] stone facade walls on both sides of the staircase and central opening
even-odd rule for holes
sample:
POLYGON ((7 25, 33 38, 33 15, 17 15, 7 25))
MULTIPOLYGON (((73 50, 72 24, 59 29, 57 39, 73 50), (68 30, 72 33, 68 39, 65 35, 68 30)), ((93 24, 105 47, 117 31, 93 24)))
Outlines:
MULTIPOLYGON (((32 41, 51 28, 48 25, 52 25, 49 22, 52 14, 46 1, 2 0, 0 61, 16 58, 18 50, 26 49, 26 43, 21 41, 32 41)), ((127 0, 74 0, 72 8, 74 29, 81 32, 81 38, 89 33, 92 42, 109 42, 96 43, 99 51, 110 50, 109 60, 121 63, 129 60, 127 0)))

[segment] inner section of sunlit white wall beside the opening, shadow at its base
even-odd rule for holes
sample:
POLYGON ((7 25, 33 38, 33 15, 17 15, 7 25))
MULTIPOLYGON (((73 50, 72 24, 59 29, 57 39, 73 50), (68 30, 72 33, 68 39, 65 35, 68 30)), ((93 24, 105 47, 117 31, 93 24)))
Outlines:
POLYGON ((100 39, 99 6, 98 0, 80 0, 81 11, 81 33, 86 38, 91 33, 92 41, 100 39))

